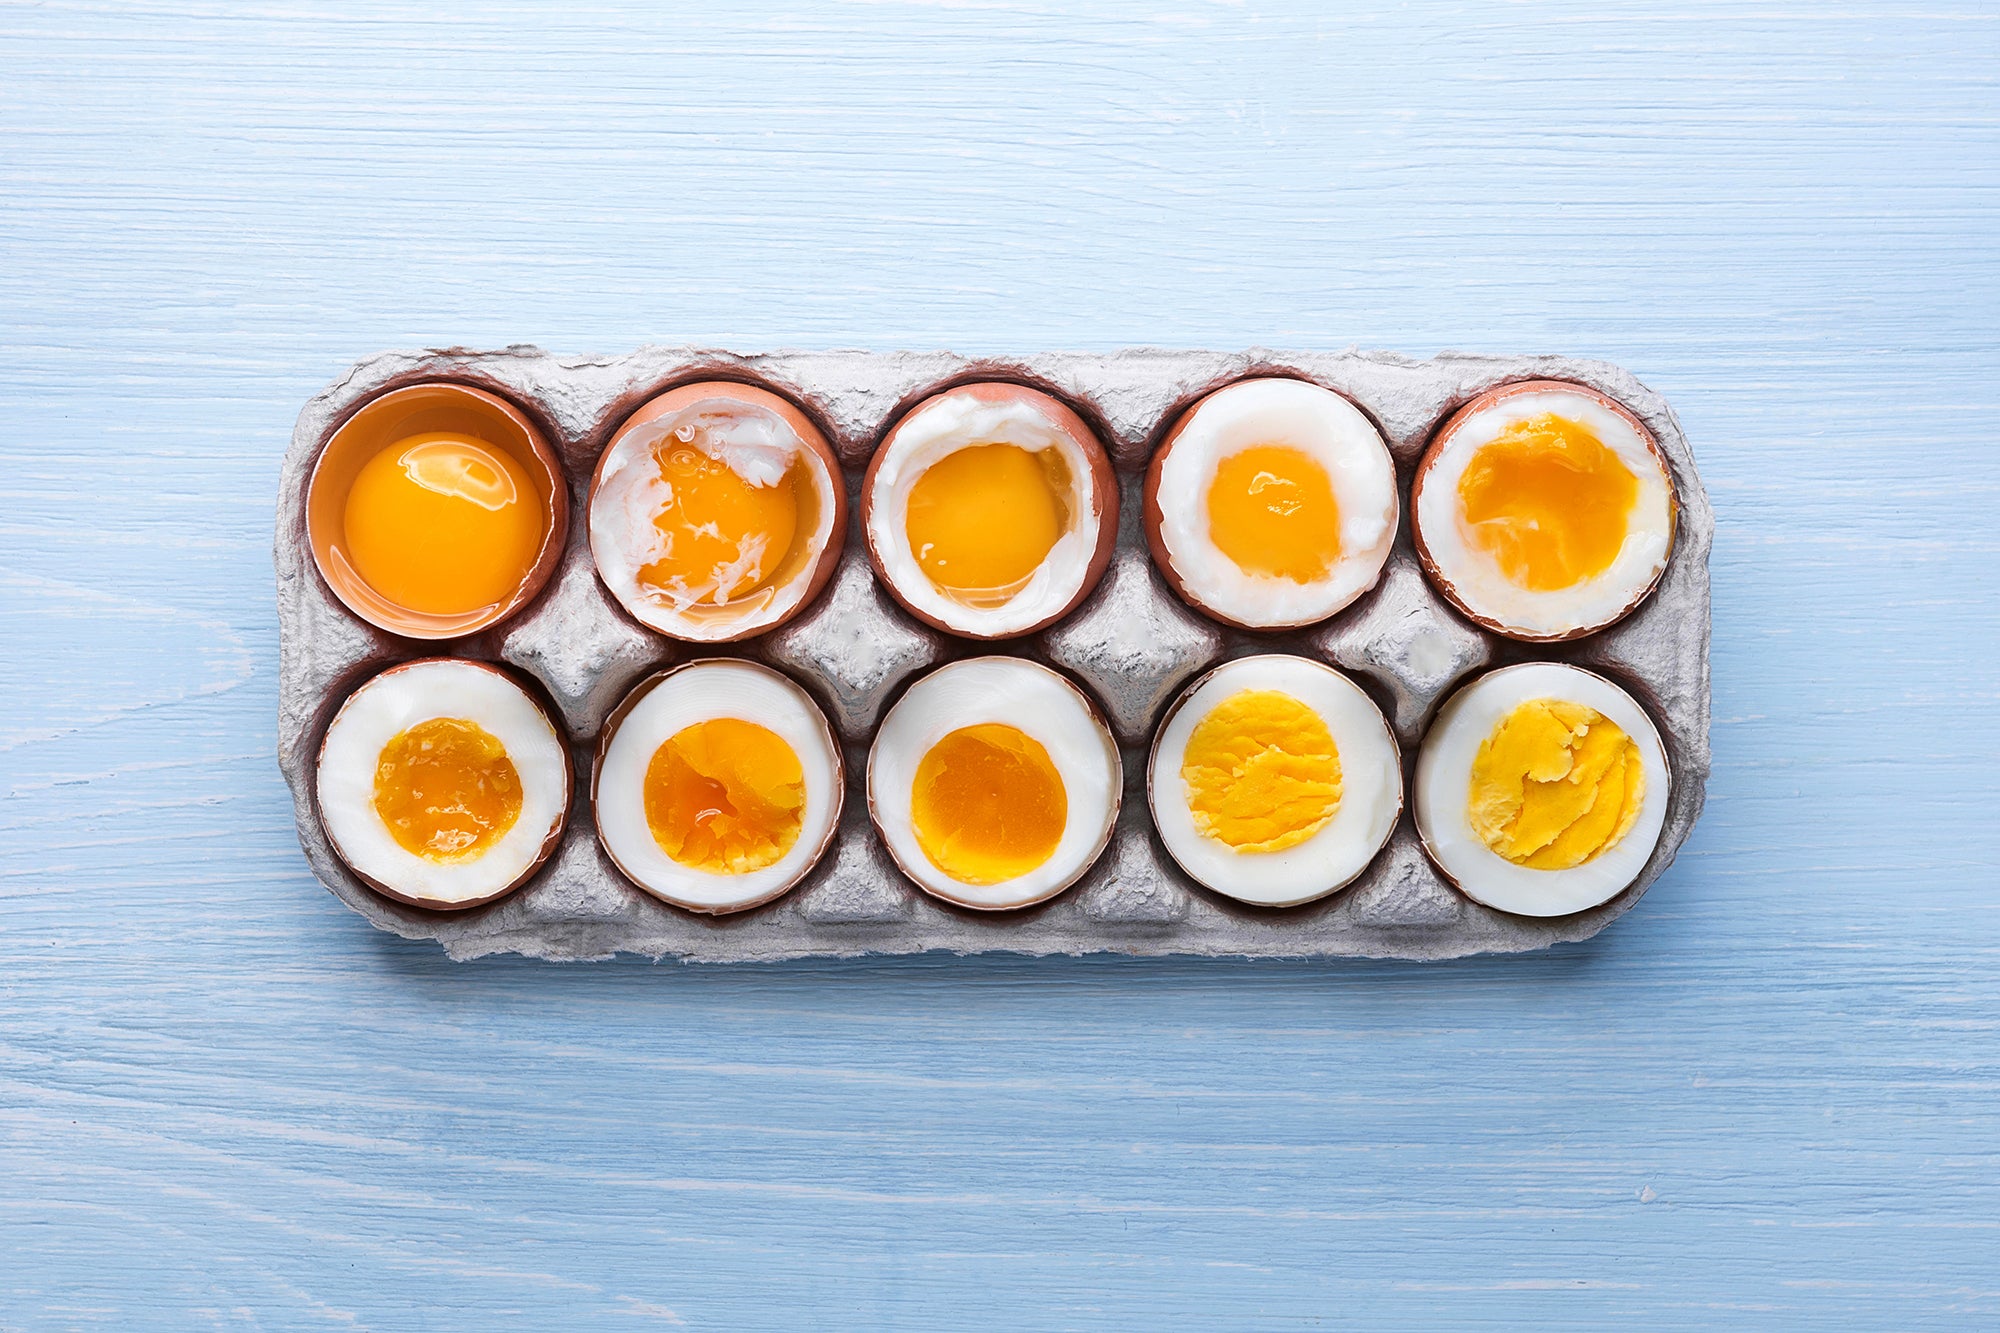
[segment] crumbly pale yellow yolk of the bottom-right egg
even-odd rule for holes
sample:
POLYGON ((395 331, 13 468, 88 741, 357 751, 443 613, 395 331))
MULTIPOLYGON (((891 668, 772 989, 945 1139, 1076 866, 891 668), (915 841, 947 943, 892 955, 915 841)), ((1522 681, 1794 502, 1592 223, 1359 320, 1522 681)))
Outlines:
POLYGON ((1566 871, 1602 857, 1646 799, 1638 747, 1596 709, 1530 699, 1472 759, 1468 815, 1514 865, 1566 871))

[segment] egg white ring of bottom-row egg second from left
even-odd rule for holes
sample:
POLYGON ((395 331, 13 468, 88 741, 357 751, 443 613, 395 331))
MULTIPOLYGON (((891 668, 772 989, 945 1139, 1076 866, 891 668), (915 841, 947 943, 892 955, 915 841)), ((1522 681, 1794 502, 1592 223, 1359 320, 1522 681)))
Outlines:
POLYGON ((840 749, 826 715, 790 679, 734 658, 678 666, 614 719, 592 785, 598 841, 626 877, 646 893, 698 913, 728 913, 768 903, 814 867, 840 821, 840 749), (714 719, 768 727, 798 755, 806 779, 806 809, 798 841, 764 867, 744 875, 680 865, 666 855, 646 823, 646 769, 686 727, 714 719))

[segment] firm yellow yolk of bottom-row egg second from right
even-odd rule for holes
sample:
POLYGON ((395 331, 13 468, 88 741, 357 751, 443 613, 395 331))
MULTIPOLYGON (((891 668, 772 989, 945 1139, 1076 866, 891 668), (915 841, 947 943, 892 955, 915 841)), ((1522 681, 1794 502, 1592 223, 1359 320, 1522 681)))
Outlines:
POLYGON ((1298 847, 1340 809, 1326 721, 1278 691, 1240 691, 1188 733, 1180 757, 1194 827, 1240 853, 1298 847))

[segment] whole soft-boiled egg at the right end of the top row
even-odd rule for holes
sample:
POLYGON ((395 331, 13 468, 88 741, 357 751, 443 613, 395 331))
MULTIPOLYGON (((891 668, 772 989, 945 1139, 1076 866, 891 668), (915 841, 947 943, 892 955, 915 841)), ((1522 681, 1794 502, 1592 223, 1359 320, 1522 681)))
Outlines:
POLYGON ((1416 468, 1416 552, 1476 624, 1548 642, 1634 610, 1666 570, 1678 502, 1628 408, 1582 384, 1502 384, 1460 408, 1416 468))

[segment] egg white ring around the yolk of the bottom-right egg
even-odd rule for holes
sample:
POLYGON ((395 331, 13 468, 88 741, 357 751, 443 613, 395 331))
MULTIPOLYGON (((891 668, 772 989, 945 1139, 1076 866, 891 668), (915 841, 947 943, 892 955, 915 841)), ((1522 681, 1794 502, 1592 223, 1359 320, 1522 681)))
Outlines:
POLYGON ((1438 711, 1416 757, 1416 831, 1464 895, 1520 917, 1568 917, 1618 897, 1652 859, 1666 825, 1672 771, 1646 711, 1600 675, 1564 662, 1502 666, 1464 687, 1438 711), (1530 699, 1596 709, 1638 747, 1646 779, 1638 819, 1606 853, 1566 871, 1514 865, 1472 829, 1472 761, 1502 721, 1530 699))

